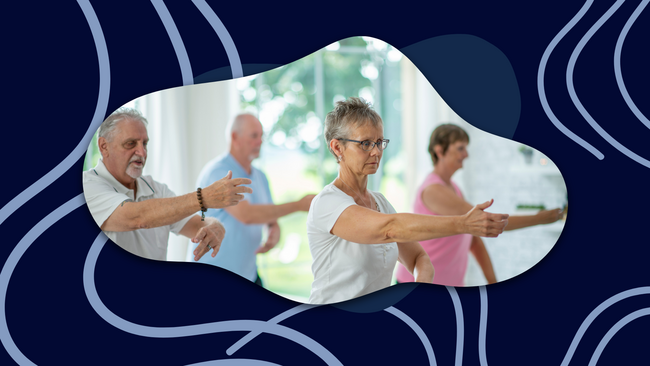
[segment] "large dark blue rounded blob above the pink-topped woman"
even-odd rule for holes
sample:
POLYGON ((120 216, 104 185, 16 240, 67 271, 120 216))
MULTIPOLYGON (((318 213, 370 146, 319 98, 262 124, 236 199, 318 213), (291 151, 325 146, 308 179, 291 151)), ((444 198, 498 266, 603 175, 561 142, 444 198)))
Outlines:
POLYGON ((489 42, 468 34, 433 37, 400 49, 465 121, 512 139, 521 96, 508 58, 489 42))

